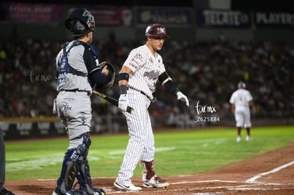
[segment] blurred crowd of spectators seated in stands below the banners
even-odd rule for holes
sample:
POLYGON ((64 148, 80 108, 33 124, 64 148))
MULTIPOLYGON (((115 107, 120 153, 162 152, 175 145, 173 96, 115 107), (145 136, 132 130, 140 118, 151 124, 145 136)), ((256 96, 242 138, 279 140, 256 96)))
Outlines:
MULTIPOLYGON (((46 117, 53 115, 56 96, 55 55, 61 40, 18 40, 0 38, 0 118, 46 117)), ((141 40, 144 41, 144 40, 141 40)), ((95 41, 102 59, 117 70, 139 40, 95 41)), ((294 49, 283 43, 233 43, 206 40, 197 43, 168 40, 160 51, 165 67, 178 87, 190 99, 190 108, 158 87, 156 104, 151 106, 153 119, 165 126, 195 126, 196 105, 211 106, 209 116, 232 118, 229 96, 237 82, 246 82, 254 96, 256 118, 289 118, 294 116, 294 49), (163 103, 165 102, 165 103, 163 103)), ((117 82, 107 94, 118 97, 117 82)), ((93 118, 107 120, 105 113, 121 120, 115 106, 92 95, 93 118)), ((205 114, 205 113, 202 113, 205 114)), ((208 113, 207 113, 208 114, 208 113)), ((100 120, 100 121, 99 121, 100 120)), ((124 121, 124 120, 121 120, 124 121)))

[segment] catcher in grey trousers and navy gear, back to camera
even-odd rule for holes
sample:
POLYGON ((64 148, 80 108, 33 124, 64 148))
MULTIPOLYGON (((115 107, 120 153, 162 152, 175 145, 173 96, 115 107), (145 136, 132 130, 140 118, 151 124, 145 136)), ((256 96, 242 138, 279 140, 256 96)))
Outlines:
POLYGON ((65 20, 74 40, 64 43, 56 57, 57 91, 53 112, 57 114, 70 139, 62 162, 60 177, 53 195, 104 195, 103 189, 92 186, 87 155, 91 139, 92 90, 107 90, 114 82, 114 68, 99 64, 99 51, 90 45, 95 30, 92 13, 76 9, 65 20), (79 189, 75 189, 77 179, 79 189))

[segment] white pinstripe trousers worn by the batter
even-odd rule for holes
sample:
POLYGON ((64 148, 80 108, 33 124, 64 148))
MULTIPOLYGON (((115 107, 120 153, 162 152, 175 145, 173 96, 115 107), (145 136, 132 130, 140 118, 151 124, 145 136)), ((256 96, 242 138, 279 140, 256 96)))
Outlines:
POLYGON ((131 183, 131 177, 139 160, 150 162, 155 154, 153 130, 148 113, 151 101, 134 89, 128 90, 128 96, 129 106, 134 108, 134 113, 124 112, 130 138, 119 170, 119 177, 116 178, 116 182, 124 185, 131 183))

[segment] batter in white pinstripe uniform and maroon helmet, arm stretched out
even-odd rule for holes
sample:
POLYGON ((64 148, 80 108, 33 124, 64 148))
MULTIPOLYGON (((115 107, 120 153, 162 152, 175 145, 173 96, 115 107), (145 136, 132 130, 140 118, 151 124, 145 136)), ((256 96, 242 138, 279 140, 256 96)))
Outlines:
POLYGON ((114 187, 120 190, 141 191, 140 186, 134 186, 131 182, 139 160, 143 165, 143 187, 163 188, 169 185, 156 176, 154 168, 154 136, 148 107, 154 101, 156 82, 159 80, 165 89, 189 106, 187 96, 165 71, 163 58, 157 52, 168 38, 164 26, 151 24, 146 28, 145 35, 146 44, 131 50, 119 72, 119 108, 126 116, 130 136, 121 169, 114 182, 114 187), (134 113, 126 112, 128 105, 134 108, 134 113))

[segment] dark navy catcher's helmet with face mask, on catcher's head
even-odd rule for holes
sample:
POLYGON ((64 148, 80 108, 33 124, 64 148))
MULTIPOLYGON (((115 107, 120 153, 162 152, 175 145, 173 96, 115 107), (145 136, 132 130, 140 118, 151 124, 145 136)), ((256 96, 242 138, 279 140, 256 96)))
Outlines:
POLYGON ((73 33, 73 37, 87 35, 87 33, 95 31, 94 16, 85 8, 75 9, 65 20, 65 26, 73 33))

